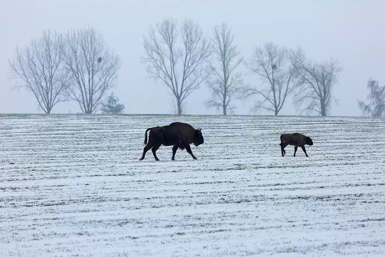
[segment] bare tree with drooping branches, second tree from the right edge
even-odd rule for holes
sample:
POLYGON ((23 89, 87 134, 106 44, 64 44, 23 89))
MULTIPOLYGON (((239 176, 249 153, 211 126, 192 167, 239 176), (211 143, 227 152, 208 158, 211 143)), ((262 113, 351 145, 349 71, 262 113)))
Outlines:
POLYGON ((342 70, 336 60, 312 63, 307 61, 302 50, 291 53, 291 60, 297 77, 296 97, 297 107, 303 106, 306 113, 315 112, 321 116, 330 113, 333 86, 338 81, 342 70))

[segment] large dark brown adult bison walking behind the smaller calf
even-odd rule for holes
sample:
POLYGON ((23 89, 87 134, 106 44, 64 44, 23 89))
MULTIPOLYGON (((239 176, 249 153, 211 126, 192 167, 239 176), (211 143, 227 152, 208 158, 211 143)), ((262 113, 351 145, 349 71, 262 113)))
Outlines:
POLYGON ((143 155, 140 160, 144 159, 144 156, 148 150, 152 151, 155 160, 159 160, 156 154, 158 148, 163 145, 174 145, 172 147, 172 158, 175 160, 175 153, 177 149, 186 149, 192 158, 197 159, 191 152, 190 143, 194 143, 195 146, 203 144, 203 136, 201 128, 196 130, 190 124, 182 122, 174 122, 167 126, 151 127, 147 128, 144 137, 144 143, 146 146, 143 150, 143 155), (148 143, 147 143, 147 131, 150 131, 148 143))

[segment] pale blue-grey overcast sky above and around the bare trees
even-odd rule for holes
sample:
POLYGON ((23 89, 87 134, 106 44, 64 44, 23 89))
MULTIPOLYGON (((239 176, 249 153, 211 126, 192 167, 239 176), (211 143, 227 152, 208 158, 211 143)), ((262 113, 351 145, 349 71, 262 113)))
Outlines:
MULTIPOLYGON (((2 0, 0 8, 0 113, 42 113, 25 90, 15 90, 8 60, 15 47, 25 46, 43 30, 98 29, 122 65, 113 88, 127 114, 172 114, 174 98, 166 86, 147 78, 143 36, 164 17, 197 21, 211 34, 222 22, 232 28, 235 42, 247 60, 255 46, 267 41, 290 48, 302 47, 313 61, 337 59, 343 70, 333 89, 338 105, 331 115, 360 115, 357 99, 367 96, 369 78, 385 84, 385 1, 18 1, 2 0)), ((247 72, 244 66, 242 72, 247 72)), ((258 86, 254 75, 244 81, 258 86)), ((207 87, 190 95, 186 114, 217 114, 207 110, 207 87)), ((296 115, 292 96, 280 114, 296 115)), ((236 102, 235 114, 253 114, 255 98, 236 102)), ((60 103, 52 113, 78 113, 77 103, 60 103)), ((258 112, 256 114, 269 114, 258 112)))

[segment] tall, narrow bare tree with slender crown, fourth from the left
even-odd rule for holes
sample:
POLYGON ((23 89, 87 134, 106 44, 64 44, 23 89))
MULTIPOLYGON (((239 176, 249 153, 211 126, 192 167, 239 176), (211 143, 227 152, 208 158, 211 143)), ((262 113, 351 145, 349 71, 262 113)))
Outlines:
POLYGON ((211 99, 206 105, 222 109, 223 115, 226 115, 234 109, 230 102, 237 98, 242 84, 241 74, 235 73, 235 70, 243 58, 239 58, 234 34, 225 23, 221 27, 214 27, 213 33, 211 49, 216 65, 210 65, 213 76, 207 81, 207 85, 211 89, 211 99))

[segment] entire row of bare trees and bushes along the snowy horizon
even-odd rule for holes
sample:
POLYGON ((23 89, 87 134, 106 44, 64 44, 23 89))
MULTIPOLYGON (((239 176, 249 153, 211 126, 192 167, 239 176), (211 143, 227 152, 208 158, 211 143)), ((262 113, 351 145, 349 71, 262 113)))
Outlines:
MULTIPOLYGON (((333 87, 342 70, 335 59, 313 62, 301 48, 288 49, 273 42, 256 46, 245 60, 225 23, 206 36, 191 19, 178 22, 168 18, 151 25, 143 47, 142 62, 148 77, 171 91, 178 115, 183 113, 189 95, 206 85, 210 90, 206 107, 216 108, 223 115, 233 112, 234 100, 255 96, 255 110, 279 115, 288 96, 293 95, 301 114, 326 116, 335 100, 333 87), (260 83, 244 83, 241 66, 260 83)), ((113 94, 103 100, 117 80, 120 59, 93 28, 66 34, 44 31, 28 46, 16 48, 10 67, 16 86, 31 91, 45 113, 67 100, 78 102, 85 114, 99 110, 121 113, 124 109, 113 94)), ((369 81, 369 103, 358 101, 363 115, 385 115, 384 88, 375 80, 369 81)))

